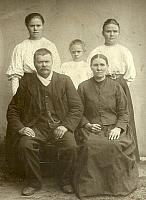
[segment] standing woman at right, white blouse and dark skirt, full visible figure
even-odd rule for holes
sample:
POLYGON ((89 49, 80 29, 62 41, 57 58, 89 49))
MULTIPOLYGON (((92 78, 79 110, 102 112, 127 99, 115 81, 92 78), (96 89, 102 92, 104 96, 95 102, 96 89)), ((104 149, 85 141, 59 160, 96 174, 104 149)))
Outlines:
POLYGON ((139 151, 134 122, 134 111, 128 87, 128 85, 135 79, 136 70, 131 52, 125 46, 118 43, 119 34, 119 23, 115 19, 107 19, 103 24, 102 30, 102 35, 105 39, 105 43, 91 51, 88 56, 87 62, 90 63, 91 58, 99 53, 105 55, 108 58, 109 67, 107 75, 112 79, 120 82, 127 95, 130 113, 130 124, 133 129, 134 138, 136 141, 135 155, 137 161, 139 161, 139 151))

